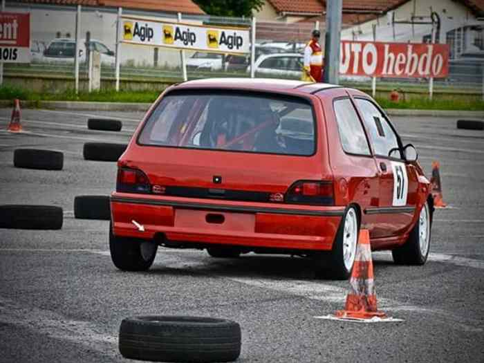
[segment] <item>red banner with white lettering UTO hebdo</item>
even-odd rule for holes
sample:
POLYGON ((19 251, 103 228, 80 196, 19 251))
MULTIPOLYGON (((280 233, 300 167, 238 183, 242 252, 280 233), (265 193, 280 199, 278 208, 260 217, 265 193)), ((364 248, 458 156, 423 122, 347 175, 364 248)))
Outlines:
POLYGON ((371 77, 447 77, 447 44, 342 41, 339 73, 371 77))

